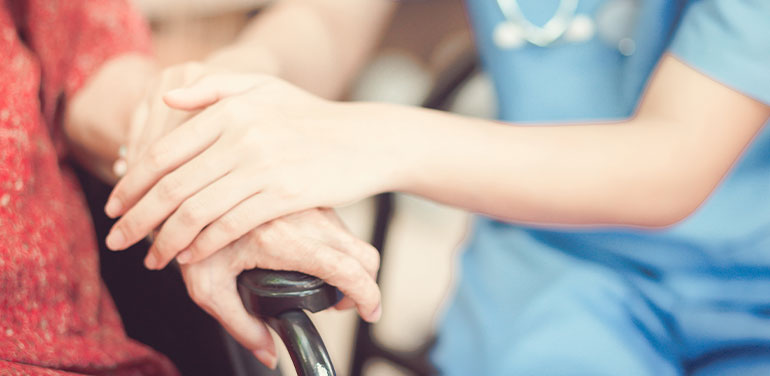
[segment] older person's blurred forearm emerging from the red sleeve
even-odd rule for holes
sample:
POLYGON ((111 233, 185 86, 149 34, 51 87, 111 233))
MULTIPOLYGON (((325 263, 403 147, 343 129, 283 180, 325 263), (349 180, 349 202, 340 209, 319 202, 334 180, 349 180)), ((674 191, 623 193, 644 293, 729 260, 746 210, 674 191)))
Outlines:
POLYGON ((73 156, 107 182, 117 178, 112 165, 125 144, 131 114, 155 73, 146 56, 118 56, 67 103, 64 132, 73 156))

